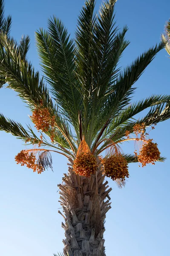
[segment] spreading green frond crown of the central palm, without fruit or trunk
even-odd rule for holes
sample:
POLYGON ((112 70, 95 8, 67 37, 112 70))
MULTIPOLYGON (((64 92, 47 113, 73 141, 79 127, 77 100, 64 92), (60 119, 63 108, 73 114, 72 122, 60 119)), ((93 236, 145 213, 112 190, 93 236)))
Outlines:
MULTIPOLYGON (((115 2, 103 3, 96 15, 95 1, 86 1, 78 17, 75 41, 55 16, 48 20, 47 30, 36 32, 41 67, 49 89, 26 58, 29 37, 23 37, 17 44, 6 32, 1 32, 0 76, 5 77, 7 87, 17 91, 32 111, 39 106, 48 108, 55 116, 54 143, 44 138, 41 145, 55 147, 68 157, 75 156, 83 135, 90 150, 95 149, 98 155, 109 145, 109 140, 119 142, 126 131, 133 132, 135 124, 150 126, 170 117, 169 95, 131 101, 135 81, 165 43, 148 49, 121 70, 118 63, 129 41, 125 40, 127 27, 118 32, 115 25, 115 2), (147 108, 150 109, 142 119, 133 118, 147 108), (96 147, 104 139, 109 140, 96 147)), ((29 126, 25 130, 2 114, 0 128, 30 143, 40 140, 29 126)), ((45 134, 50 136, 50 129, 45 134)))

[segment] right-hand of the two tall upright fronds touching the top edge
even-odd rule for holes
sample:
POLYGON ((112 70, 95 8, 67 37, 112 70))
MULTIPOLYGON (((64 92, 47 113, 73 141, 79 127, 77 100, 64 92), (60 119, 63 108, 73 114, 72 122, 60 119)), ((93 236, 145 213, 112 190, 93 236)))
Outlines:
POLYGON ((94 29, 93 83, 89 99, 92 103, 88 110, 88 118, 93 122, 89 122, 89 144, 93 140, 93 134, 96 134, 95 128, 99 128, 98 114, 106 95, 109 94, 111 81, 114 81, 118 76, 119 69, 116 67, 121 53, 129 44, 128 41, 124 40, 127 27, 124 27, 122 32, 117 33, 118 27, 115 26, 114 22, 115 2, 115 0, 110 0, 103 3, 94 29))

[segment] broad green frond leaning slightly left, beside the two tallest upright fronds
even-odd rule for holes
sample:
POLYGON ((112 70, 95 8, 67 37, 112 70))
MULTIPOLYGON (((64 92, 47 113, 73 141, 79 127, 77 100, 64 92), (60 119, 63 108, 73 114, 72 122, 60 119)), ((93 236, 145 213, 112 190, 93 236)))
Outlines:
POLYGON ((48 32, 36 33, 37 47, 47 81, 58 102, 61 113, 74 125, 78 134, 78 109, 81 94, 77 88, 74 70, 74 44, 61 20, 48 21, 48 32))

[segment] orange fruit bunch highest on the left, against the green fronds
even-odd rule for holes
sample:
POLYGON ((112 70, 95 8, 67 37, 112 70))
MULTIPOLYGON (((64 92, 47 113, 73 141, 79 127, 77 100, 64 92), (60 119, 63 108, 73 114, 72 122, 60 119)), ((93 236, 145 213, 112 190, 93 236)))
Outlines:
MULTIPOLYGON (((42 104, 40 107, 36 107, 32 112, 32 122, 35 123, 37 131, 41 130, 42 132, 48 132, 50 129, 50 139, 52 143, 55 138, 55 115, 51 115, 48 108, 43 108, 42 104)), ((42 143, 42 137, 41 142, 42 143)))

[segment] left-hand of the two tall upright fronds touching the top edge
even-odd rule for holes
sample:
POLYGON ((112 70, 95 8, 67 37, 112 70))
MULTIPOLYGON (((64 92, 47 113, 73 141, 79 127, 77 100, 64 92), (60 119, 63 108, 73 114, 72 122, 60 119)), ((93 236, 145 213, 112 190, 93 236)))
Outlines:
POLYGON ((79 83, 79 90, 83 96, 81 110, 82 129, 86 140, 89 130, 89 113, 91 106, 89 97, 93 88, 93 55, 94 55, 94 30, 96 16, 94 15, 95 0, 86 0, 78 17, 78 26, 75 32, 75 73, 79 83))

